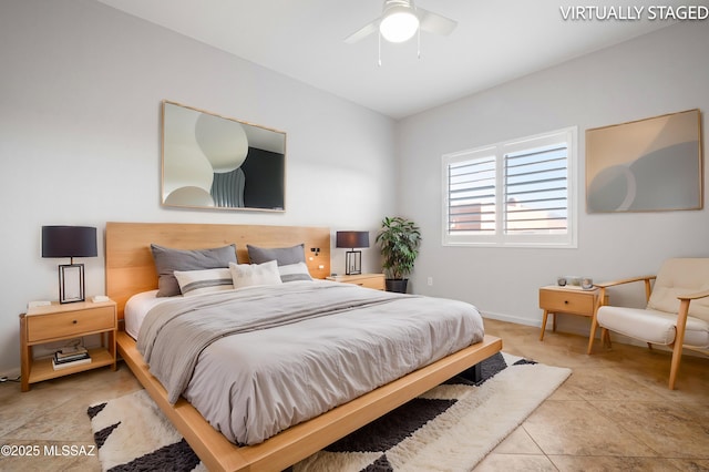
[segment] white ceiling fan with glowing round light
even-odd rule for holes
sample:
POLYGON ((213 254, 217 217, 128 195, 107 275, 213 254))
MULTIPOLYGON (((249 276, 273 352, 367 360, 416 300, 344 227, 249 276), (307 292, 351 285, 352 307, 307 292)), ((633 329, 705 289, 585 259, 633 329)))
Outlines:
POLYGON ((456 21, 439 13, 418 8, 413 0, 384 0, 381 17, 345 39, 346 43, 354 43, 379 30, 380 38, 390 42, 404 42, 421 30, 448 35, 458 24, 456 21))

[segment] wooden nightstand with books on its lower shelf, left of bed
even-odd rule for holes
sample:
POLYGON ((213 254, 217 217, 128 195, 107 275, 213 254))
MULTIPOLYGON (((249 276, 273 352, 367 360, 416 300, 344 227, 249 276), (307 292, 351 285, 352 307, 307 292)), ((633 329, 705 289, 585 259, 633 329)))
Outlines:
POLYGON ((20 315, 21 389, 30 390, 30 383, 111 366, 116 368, 115 335, 119 321, 115 301, 52 302, 32 307, 20 315), (89 349, 90 363, 54 370, 52 359, 34 359, 37 345, 101 335, 101 347, 89 349))

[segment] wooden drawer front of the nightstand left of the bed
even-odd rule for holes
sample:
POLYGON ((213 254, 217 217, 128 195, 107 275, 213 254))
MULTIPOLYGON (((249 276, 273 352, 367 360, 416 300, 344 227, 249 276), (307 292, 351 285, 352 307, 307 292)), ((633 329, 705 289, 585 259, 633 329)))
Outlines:
POLYGON ((27 341, 83 336, 115 328, 115 308, 96 307, 81 311, 27 317, 27 341))

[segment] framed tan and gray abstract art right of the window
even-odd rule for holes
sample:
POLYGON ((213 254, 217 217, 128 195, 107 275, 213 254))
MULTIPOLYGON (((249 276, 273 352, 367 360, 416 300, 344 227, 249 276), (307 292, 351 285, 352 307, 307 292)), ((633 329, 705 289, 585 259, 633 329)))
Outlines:
POLYGON ((586 130, 586 211, 701 209, 698 109, 586 130))

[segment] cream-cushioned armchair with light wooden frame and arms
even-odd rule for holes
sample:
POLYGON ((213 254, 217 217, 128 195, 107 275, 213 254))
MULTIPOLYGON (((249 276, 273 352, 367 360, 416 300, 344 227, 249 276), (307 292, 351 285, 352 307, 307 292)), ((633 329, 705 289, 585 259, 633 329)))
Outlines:
POLYGON ((608 331, 645 341, 650 349, 653 345, 669 346, 672 348, 669 388, 674 390, 682 347, 709 353, 709 258, 667 259, 657 276, 596 284, 600 287, 600 300, 608 287, 636 281, 645 283, 647 307, 598 307, 590 324, 588 353, 597 327, 602 328, 600 339, 607 346, 608 331))

